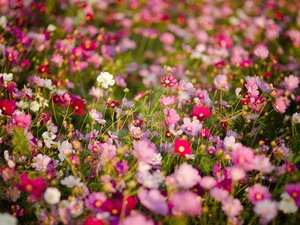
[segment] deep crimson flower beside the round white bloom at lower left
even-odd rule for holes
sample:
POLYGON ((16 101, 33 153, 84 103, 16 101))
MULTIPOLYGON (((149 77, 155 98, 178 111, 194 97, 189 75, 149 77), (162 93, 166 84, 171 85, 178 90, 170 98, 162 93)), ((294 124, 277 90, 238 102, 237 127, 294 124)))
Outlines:
POLYGON ((16 187, 21 191, 32 194, 36 198, 40 198, 42 192, 46 189, 46 184, 43 178, 30 180, 27 173, 20 176, 20 181, 21 184, 16 185, 16 187))

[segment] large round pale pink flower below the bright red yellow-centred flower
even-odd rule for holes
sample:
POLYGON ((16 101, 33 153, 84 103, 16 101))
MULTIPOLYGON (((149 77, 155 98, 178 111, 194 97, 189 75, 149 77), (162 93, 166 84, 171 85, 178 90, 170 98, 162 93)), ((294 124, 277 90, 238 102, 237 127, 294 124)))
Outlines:
POLYGON ((174 177, 179 186, 183 188, 191 188, 201 179, 198 170, 186 163, 179 166, 174 177))

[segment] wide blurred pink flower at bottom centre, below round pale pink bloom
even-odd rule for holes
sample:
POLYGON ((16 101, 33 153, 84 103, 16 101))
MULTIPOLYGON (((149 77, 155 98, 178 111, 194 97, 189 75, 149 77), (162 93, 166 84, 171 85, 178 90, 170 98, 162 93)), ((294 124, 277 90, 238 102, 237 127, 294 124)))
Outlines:
POLYGON ((175 192, 170 196, 169 204, 173 215, 194 215, 202 212, 201 198, 191 191, 175 192))

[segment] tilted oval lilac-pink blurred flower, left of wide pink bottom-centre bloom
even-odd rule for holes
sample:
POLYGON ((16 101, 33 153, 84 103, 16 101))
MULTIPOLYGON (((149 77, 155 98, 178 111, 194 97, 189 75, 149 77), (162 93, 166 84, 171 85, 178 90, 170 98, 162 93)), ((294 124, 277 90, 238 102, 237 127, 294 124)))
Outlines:
POLYGON ((166 215, 169 211, 168 205, 165 202, 166 197, 159 190, 152 189, 147 191, 146 189, 140 189, 138 197, 141 204, 152 212, 166 215))

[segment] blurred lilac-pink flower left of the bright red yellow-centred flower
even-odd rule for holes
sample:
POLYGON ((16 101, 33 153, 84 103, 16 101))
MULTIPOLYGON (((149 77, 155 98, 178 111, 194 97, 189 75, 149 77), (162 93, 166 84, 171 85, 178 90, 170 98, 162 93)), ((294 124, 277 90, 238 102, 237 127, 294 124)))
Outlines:
POLYGON ((140 161, 151 163, 153 155, 157 153, 155 144, 144 138, 141 141, 133 142, 132 154, 140 161))

